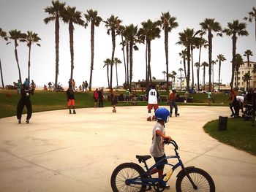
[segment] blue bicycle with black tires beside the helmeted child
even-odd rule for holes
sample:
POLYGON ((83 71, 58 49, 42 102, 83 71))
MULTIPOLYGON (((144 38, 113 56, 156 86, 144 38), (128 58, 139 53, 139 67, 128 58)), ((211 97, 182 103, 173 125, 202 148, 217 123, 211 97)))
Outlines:
POLYGON ((111 188, 114 192, 121 191, 148 191, 151 190, 152 186, 155 191, 164 191, 166 188, 166 183, 170 179, 174 170, 181 166, 181 171, 177 174, 176 180, 176 191, 215 191, 214 180, 211 178, 203 169, 199 169, 195 166, 184 167, 184 164, 181 161, 180 156, 178 155, 178 145, 172 141, 165 140, 165 144, 172 144, 174 146, 174 151, 176 155, 169 155, 165 159, 177 158, 177 164, 168 164, 162 161, 159 161, 157 164, 154 164, 150 168, 146 164, 146 161, 151 158, 151 155, 136 155, 140 163, 144 163, 146 171, 138 164, 135 163, 124 163, 114 169, 111 175, 111 188), (160 164, 165 164, 171 166, 170 172, 163 175, 162 179, 153 178, 150 174, 151 169, 159 166, 160 164), (146 188, 148 189, 146 190, 146 188))

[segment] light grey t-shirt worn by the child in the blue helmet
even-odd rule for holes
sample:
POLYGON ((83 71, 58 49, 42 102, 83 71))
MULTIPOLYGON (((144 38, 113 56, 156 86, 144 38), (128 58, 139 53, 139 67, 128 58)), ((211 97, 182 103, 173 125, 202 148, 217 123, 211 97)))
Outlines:
POLYGON ((165 134, 165 127, 157 122, 153 128, 150 154, 155 158, 159 158, 159 157, 162 157, 162 155, 165 155, 164 139, 161 136, 157 135, 157 130, 165 134))

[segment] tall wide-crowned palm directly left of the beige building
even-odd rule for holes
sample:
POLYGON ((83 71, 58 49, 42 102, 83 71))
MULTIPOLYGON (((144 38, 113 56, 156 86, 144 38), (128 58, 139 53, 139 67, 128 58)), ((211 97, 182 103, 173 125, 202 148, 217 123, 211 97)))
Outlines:
POLYGON ((237 36, 248 36, 248 32, 246 31, 246 23, 239 23, 238 20, 233 20, 233 23, 227 23, 227 28, 223 30, 227 36, 232 36, 232 74, 231 74, 231 82, 230 87, 233 89, 233 79, 234 73, 236 70, 235 58, 236 58, 236 41, 237 36))

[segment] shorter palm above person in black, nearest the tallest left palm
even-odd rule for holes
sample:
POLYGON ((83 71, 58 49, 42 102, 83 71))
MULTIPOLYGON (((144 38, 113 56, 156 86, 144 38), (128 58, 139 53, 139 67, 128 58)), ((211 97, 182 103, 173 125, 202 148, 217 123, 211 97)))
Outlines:
POLYGON ((29 47, 29 61, 28 61, 28 79, 29 79, 29 82, 30 82, 30 55, 31 55, 31 45, 32 44, 36 44, 37 46, 41 46, 38 42, 39 42, 40 37, 38 37, 38 34, 34 33, 33 31, 27 31, 27 34, 26 34, 26 45, 28 45, 29 47))

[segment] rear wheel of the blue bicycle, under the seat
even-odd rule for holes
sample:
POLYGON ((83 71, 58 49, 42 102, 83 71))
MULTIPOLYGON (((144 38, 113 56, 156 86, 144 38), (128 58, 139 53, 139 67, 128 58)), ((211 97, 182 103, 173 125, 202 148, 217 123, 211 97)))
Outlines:
POLYGON ((120 164, 116 167, 116 169, 114 169, 111 175, 111 188, 113 192, 146 191, 146 185, 127 185, 127 183, 125 183, 125 180, 138 177, 144 172, 144 169, 138 164, 120 164))

